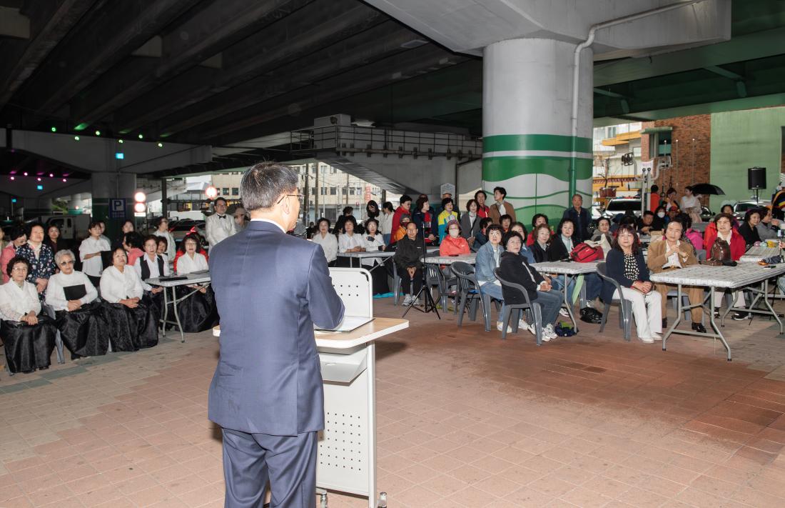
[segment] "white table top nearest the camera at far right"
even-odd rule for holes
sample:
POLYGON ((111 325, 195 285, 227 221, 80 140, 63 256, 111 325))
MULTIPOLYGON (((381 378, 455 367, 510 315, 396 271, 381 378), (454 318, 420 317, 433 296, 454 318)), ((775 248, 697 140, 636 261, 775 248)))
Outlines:
POLYGON ((649 277, 652 282, 664 284, 703 285, 734 289, 785 274, 785 263, 772 266, 773 268, 767 268, 761 267, 758 263, 741 263, 736 267, 712 267, 700 264, 651 274, 649 277))

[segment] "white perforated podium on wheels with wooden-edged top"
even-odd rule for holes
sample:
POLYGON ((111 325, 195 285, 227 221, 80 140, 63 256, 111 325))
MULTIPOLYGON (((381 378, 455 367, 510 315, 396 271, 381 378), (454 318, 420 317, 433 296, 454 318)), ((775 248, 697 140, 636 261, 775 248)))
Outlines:
MULTIPOLYGON (((373 317, 371 273, 330 268, 345 315, 373 317)), ((324 430, 319 433, 316 487, 349 492, 378 506, 376 491, 376 351, 374 341, 406 329, 405 319, 375 318, 348 333, 316 333, 324 381, 324 430)), ((327 506, 326 497, 322 505, 327 506)))

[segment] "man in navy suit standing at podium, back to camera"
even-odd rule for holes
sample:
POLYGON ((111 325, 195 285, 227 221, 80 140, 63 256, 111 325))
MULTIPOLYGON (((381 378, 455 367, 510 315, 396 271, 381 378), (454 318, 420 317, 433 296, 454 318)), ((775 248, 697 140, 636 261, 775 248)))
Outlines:
POLYGON ((223 430, 229 508, 261 508, 268 480, 271 506, 316 506, 324 396, 313 326, 338 326, 344 306, 321 246, 286 234, 297 185, 290 167, 251 167, 240 184, 251 221, 210 252, 221 356, 209 418, 223 430))

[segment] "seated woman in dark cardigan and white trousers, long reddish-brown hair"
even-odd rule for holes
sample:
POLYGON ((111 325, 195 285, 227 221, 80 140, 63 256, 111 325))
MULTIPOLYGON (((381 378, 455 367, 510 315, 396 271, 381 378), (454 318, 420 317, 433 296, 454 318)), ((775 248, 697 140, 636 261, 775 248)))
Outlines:
POLYGON ((605 268, 608 277, 619 282, 622 294, 619 295, 610 282, 605 282, 602 299, 606 302, 613 298, 630 300, 638 339, 646 344, 662 341, 662 297, 648 278, 648 267, 634 226, 619 226, 613 248, 605 259, 605 268))

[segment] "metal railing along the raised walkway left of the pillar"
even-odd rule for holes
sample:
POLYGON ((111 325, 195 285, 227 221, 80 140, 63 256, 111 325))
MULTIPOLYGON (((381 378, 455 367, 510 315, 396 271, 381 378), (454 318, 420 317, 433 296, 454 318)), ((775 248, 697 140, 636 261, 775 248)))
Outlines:
POLYGON ((482 155, 482 138, 450 132, 402 131, 376 127, 331 125, 292 131, 290 150, 293 153, 334 151, 341 154, 380 153, 429 158, 472 159, 482 155))

